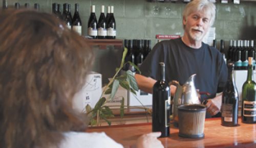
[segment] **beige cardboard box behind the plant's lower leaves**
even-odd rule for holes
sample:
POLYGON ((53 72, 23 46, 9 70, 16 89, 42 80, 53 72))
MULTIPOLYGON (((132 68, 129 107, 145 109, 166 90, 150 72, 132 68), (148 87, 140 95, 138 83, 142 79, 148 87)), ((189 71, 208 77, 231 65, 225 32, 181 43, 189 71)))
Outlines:
MULTIPOLYGON (((104 87, 102 88, 102 91, 103 89, 104 87)), ((124 98, 124 106, 127 106, 127 90, 121 86, 118 87, 112 100, 109 98, 110 94, 103 94, 103 96, 106 98, 105 106, 109 106, 110 108, 120 108, 122 97, 124 98)))

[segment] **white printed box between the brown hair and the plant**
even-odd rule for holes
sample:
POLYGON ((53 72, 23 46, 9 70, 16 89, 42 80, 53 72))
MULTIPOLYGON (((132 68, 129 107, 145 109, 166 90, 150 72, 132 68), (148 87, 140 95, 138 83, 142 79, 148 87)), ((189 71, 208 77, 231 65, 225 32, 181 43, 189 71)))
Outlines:
POLYGON ((79 112, 85 112, 89 104, 94 108, 102 93, 102 76, 97 72, 90 72, 82 89, 78 91, 73 100, 73 108, 79 112))

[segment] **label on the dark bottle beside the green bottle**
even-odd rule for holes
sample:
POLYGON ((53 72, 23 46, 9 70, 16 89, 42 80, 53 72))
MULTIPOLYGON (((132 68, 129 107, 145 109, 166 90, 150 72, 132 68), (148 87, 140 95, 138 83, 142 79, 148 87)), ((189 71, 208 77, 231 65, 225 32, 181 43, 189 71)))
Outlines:
POLYGON ((221 116, 224 117, 224 121, 232 122, 233 120, 233 104, 221 105, 221 116))

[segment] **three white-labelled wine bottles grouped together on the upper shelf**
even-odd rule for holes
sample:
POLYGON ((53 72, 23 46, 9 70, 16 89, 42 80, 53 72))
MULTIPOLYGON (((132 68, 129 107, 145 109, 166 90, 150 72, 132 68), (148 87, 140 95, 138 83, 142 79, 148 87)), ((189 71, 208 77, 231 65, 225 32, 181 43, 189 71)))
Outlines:
POLYGON ((101 6, 99 20, 95 15, 95 5, 91 6, 91 14, 88 21, 88 35, 92 38, 115 39, 116 38, 116 20, 114 17, 114 6, 108 6, 106 16, 104 14, 104 5, 101 6))

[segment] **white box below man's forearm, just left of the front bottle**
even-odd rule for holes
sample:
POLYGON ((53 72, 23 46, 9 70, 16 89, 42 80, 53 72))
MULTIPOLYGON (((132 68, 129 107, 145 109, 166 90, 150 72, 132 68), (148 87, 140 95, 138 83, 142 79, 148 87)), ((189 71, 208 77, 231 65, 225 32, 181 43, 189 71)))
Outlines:
MULTIPOLYGON (((144 92, 142 90, 136 91, 136 96, 138 100, 144 105, 144 106, 151 106, 152 105, 152 94, 144 92)), ((141 103, 137 100, 135 94, 133 94, 131 91, 128 93, 129 98, 129 106, 142 106, 141 103)))

